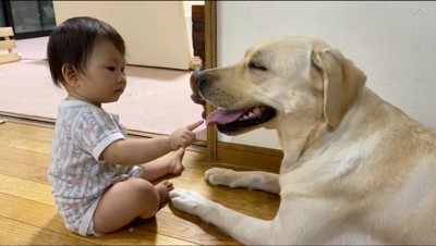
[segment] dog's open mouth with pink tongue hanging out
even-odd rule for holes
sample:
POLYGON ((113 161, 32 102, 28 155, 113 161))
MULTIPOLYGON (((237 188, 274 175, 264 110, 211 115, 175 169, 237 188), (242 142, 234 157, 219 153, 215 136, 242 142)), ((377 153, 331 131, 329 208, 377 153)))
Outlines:
POLYGON ((257 106, 241 110, 217 109, 206 119, 206 125, 217 125, 220 133, 237 135, 276 116, 276 110, 268 106, 257 106))

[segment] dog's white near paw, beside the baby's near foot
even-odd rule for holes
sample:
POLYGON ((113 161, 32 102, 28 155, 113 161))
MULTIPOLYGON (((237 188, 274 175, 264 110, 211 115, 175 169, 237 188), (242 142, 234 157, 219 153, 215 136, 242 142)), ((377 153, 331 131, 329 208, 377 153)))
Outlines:
POLYGON ((174 208, 193 216, 201 216, 208 202, 198 193, 184 188, 174 188, 169 193, 169 196, 174 208))

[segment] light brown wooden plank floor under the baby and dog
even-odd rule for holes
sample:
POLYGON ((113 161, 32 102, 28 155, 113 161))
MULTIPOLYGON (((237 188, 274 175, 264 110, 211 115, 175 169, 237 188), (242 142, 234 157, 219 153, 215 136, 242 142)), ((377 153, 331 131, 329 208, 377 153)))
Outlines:
MULTIPOLYGON (((156 218, 135 221, 116 233, 83 237, 65 230, 50 196, 47 172, 53 127, 26 122, 0 124, 0 244, 1 245, 235 245, 214 225, 170 206, 156 218)), ((258 190, 208 185, 205 170, 221 164, 204 161, 204 149, 191 148, 185 171, 171 181, 245 214, 271 219, 279 197, 258 190)))

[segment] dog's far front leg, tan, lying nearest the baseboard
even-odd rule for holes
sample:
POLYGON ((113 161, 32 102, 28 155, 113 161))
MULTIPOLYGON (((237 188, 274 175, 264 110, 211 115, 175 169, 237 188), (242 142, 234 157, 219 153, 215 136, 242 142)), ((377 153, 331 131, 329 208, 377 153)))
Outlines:
POLYGON ((213 185, 261 189, 272 194, 280 193, 279 175, 275 173, 211 168, 206 171, 205 177, 213 185))

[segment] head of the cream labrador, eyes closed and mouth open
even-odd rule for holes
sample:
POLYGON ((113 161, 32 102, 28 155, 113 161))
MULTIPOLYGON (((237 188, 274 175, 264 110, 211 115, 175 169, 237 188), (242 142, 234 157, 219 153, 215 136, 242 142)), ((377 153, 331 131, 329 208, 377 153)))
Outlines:
POLYGON ((237 64, 192 76, 201 96, 218 108, 206 123, 228 135, 279 128, 288 125, 283 121, 337 127, 366 81, 339 50, 305 37, 264 40, 237 64))

